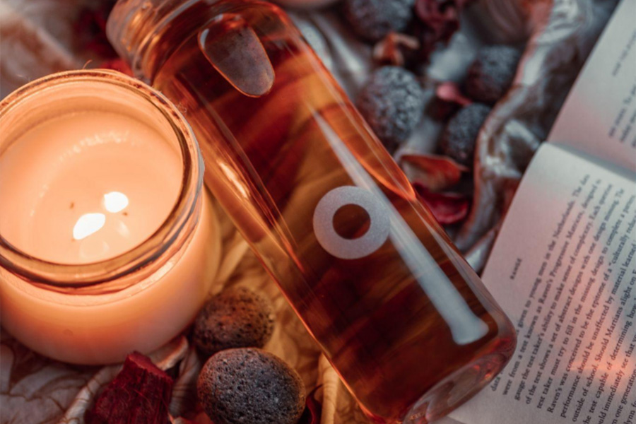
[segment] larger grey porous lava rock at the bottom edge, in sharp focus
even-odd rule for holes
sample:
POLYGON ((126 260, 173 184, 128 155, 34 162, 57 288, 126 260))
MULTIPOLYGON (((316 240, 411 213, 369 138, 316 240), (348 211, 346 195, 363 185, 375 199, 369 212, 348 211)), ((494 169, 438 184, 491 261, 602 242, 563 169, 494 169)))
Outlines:
POLYGON ((256 348, 213 355, 196 384, 215 424, 295 424, 305 408, 300 375, 281 358, 256 348))

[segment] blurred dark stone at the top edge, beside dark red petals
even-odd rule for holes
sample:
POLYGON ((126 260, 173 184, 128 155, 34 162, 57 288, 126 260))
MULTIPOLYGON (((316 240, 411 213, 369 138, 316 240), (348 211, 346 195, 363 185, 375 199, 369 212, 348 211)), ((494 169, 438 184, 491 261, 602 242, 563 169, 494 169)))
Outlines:
POLYGON ((377 42, 391 31, 400 32, 413 17, 416 0, 345 0, 351 27, 366 40, 377 42))

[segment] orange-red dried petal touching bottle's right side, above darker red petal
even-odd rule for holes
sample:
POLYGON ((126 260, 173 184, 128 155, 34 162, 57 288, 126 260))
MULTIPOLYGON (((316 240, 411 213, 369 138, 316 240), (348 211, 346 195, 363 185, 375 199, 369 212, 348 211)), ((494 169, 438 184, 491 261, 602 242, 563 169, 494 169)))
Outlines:
POLYGON ((451 158, 440 155, 402 155, 402 168, 408 179, 431 192, 448 189, 469 169, 451 158))

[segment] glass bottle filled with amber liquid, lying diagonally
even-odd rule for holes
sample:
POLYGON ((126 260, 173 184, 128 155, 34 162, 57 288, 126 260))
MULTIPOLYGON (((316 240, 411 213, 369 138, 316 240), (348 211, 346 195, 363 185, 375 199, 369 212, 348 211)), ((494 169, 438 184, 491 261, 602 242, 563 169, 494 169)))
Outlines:
POLYGON ((192 125, 206 184, 368 416, 459 406, 512 355, 509 320, 282 11, 191 3, 146 76, 192 125))

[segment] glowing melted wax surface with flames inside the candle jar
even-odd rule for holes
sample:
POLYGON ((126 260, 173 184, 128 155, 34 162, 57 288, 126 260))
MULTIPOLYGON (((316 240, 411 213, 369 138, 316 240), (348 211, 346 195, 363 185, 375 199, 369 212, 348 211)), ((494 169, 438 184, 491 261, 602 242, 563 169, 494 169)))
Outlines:
POLYGON ((114 112, 35 126, 0 159, 4 237, 59 264, 110 259, 141 244, 179 196, 181 160, 163 138, 114 112))

